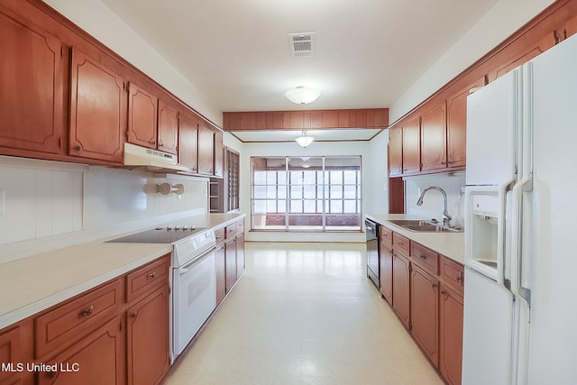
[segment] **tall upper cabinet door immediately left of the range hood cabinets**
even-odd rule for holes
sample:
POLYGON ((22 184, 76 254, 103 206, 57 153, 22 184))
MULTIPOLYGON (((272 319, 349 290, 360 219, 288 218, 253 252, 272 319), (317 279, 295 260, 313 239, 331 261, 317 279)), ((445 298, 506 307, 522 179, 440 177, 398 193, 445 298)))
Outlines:
POLYGON ((72 47, 69 153, 123 162, 124 78, 72 47))

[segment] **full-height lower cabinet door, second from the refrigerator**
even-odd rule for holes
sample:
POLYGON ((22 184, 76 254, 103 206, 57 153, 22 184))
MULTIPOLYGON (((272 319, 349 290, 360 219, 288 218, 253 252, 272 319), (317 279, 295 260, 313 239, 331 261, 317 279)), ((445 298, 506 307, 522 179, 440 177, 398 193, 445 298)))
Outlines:
POLYGON ((438 366, 439 283, 413 265, 411 274, 411 334, 426 356, 438 366))

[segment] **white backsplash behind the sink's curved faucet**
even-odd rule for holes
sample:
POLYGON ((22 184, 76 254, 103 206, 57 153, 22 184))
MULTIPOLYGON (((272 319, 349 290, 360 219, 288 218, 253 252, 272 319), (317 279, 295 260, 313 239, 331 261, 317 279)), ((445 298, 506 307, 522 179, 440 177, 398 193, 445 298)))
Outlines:
POLYGON ((431 174, 405 179, 405 207, 406 213, 418 215, 426 219, 435 218, 439 222, 443 220, 443 194, 436 190, 427 191, 423 198, 423 205, 417 206, 417 200, 421 192, 430 186, 438 186, 444 189, 447 195, 447 211, 453 216, 451 225, 464 225, 464 195, 461 194, 465 186, 465 172, 452 172, 448 174, 431 174))

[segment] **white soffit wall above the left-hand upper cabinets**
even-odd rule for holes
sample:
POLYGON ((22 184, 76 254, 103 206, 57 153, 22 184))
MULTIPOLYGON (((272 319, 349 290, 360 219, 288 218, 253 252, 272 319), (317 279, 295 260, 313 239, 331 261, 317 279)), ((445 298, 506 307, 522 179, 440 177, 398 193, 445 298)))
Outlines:
POLYGON ((185 103, 222 127, 223 114, 206 100, 177 69, 160 56, 150 44, 134 32, 99 0, 44 0, 60 14, 90 33, 134 67, 179 96, 185 103))

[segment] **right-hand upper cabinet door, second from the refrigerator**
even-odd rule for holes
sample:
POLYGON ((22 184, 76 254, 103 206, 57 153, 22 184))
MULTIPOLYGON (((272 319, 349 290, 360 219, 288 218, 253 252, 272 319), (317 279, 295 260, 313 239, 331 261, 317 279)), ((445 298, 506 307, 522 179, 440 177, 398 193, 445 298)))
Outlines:
POLYGON ((439 170, 447 165, 446 102, 421 115, 421 170, 439 170))

